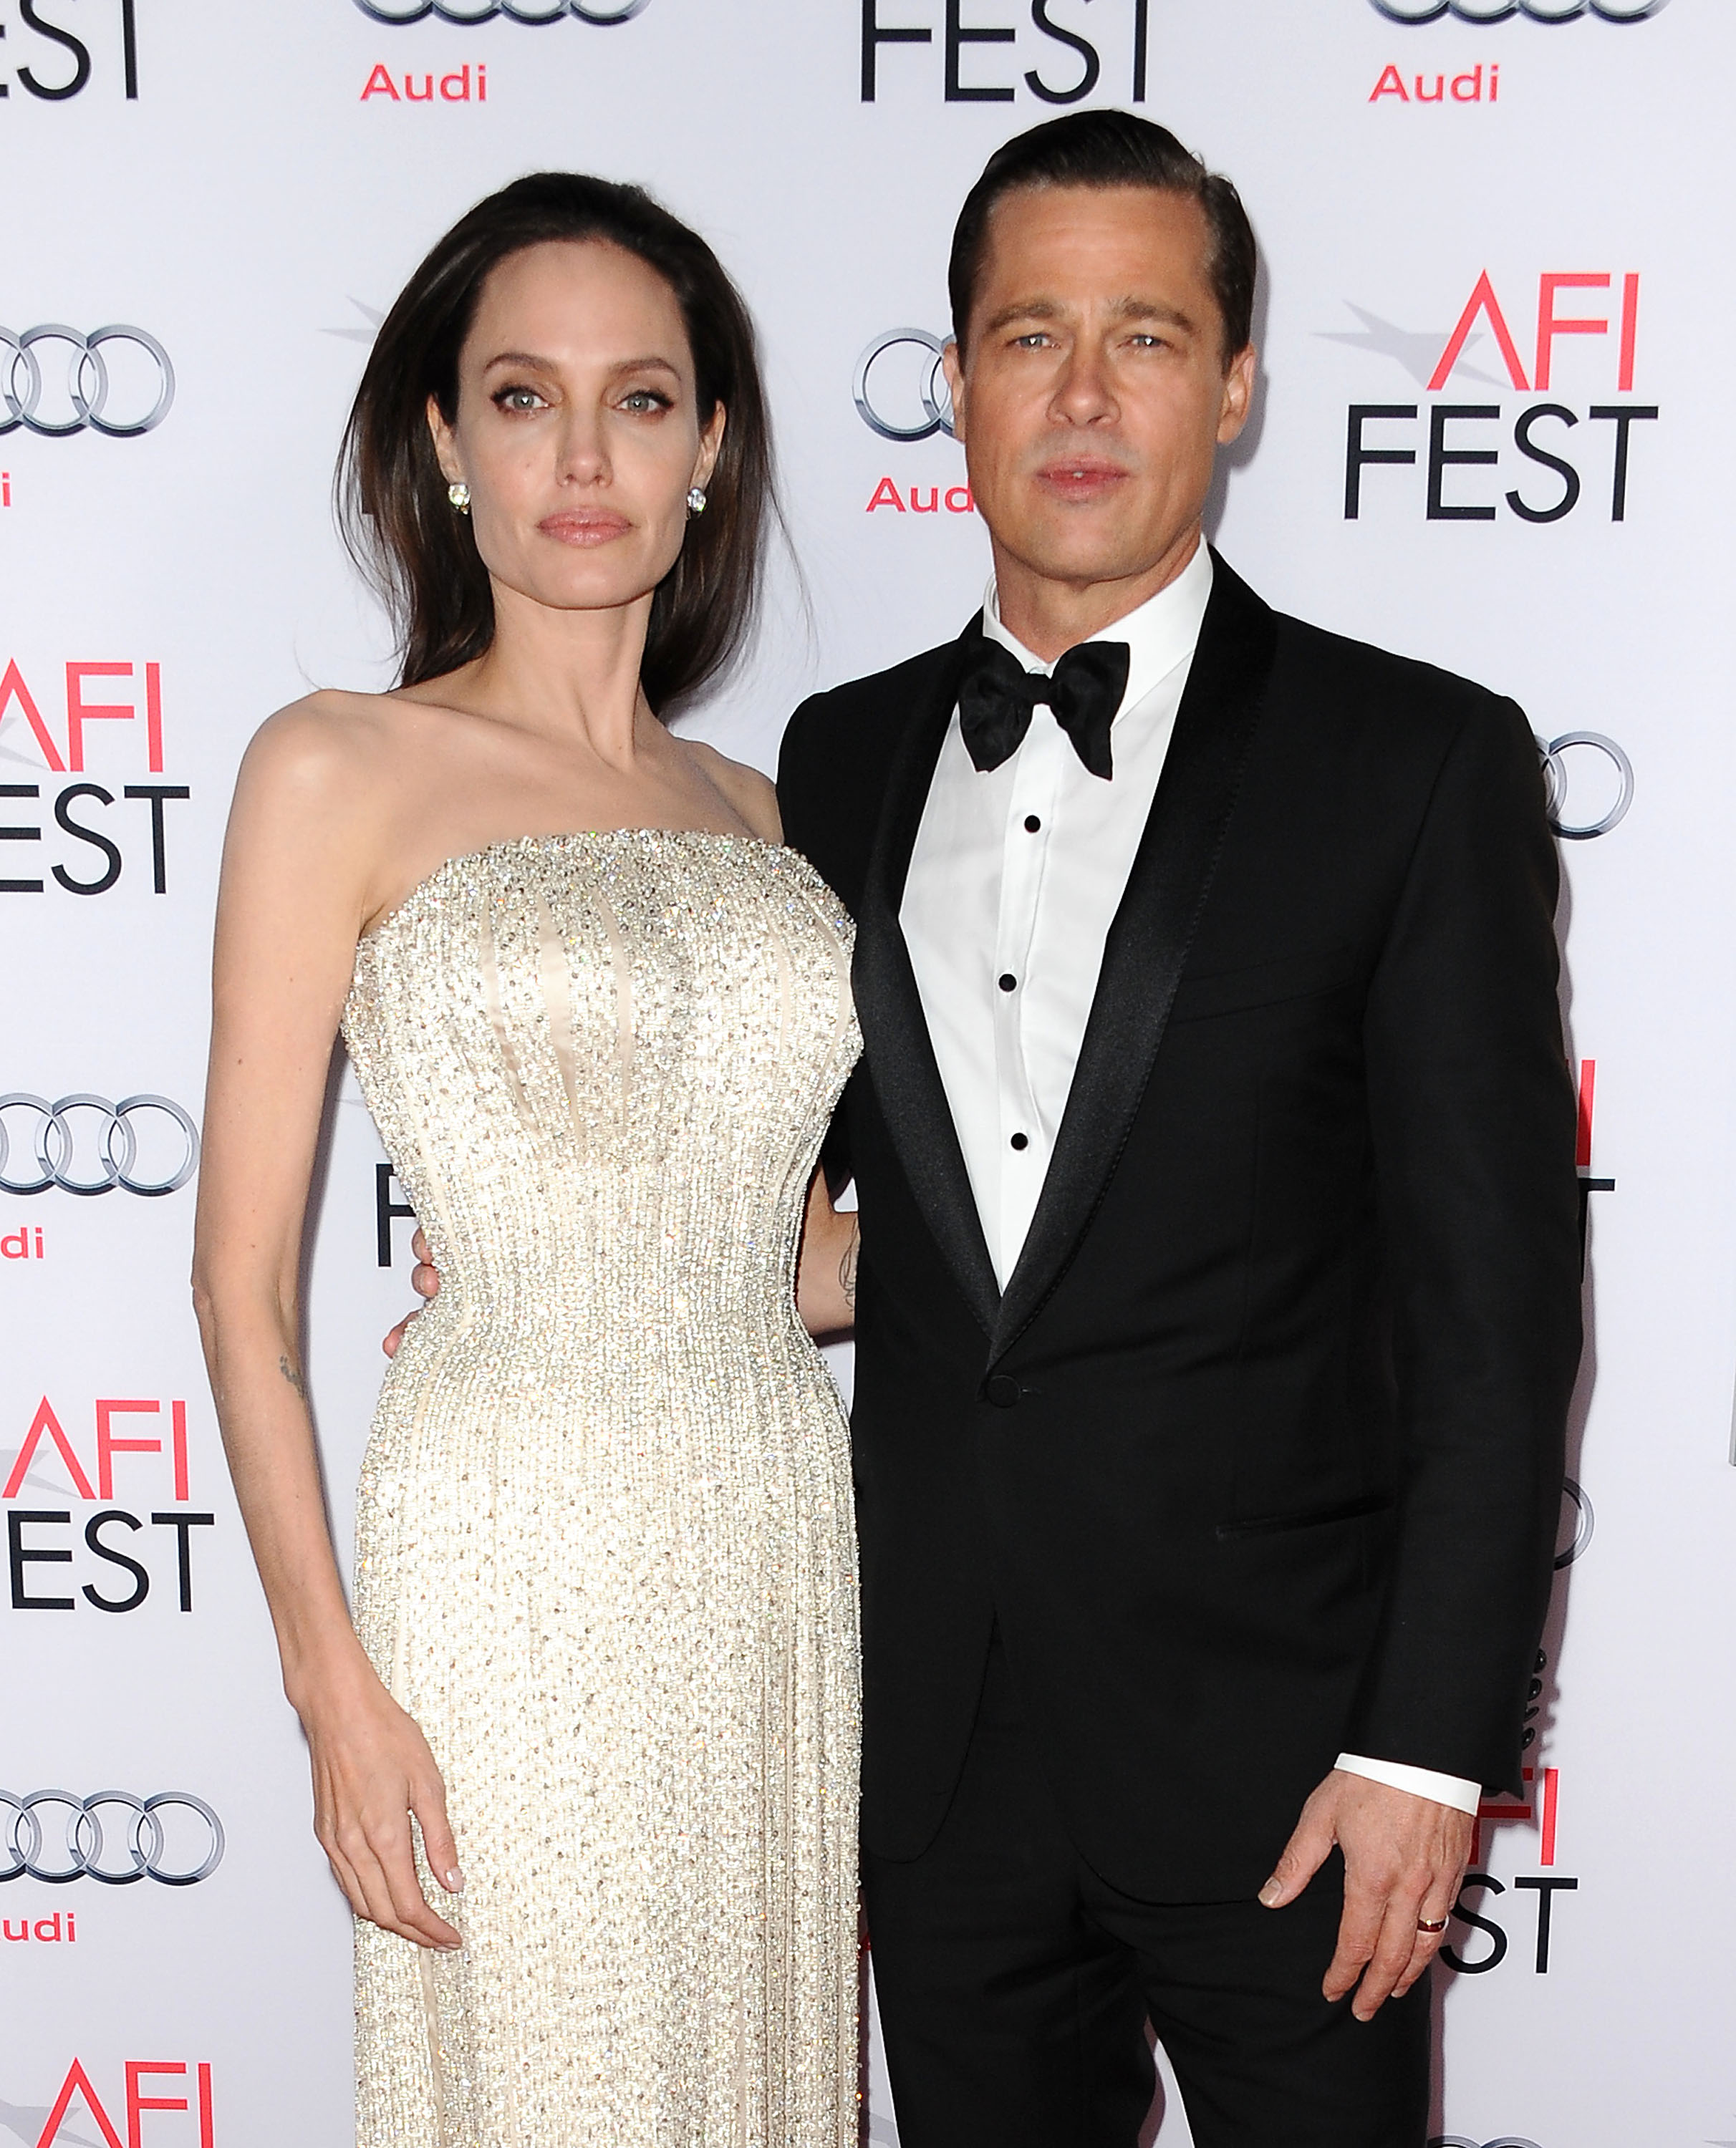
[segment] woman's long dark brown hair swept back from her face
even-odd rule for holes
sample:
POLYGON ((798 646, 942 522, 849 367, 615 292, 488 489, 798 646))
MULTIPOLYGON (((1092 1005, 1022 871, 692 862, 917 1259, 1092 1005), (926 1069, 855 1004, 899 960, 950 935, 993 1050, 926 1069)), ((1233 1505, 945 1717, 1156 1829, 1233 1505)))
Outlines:
POLYGON ((468 518, 447 500, 428 432, 430 395, 458 417, 458 354, 488 273, 550 238, 599 238, 668 284, 688 324, 698 421, 728 412, 707 511, 657 584, 640 679, 653 709, 692 694, 739 651, 776 516, 771 430, 754 324, 711 247, 651 200, 578 172, 518 178, 453 223, 387 314, 361 376, 337 466, 352 558, 393 614, 404 685, 438 679, 494 640, 494 595, 468 518))

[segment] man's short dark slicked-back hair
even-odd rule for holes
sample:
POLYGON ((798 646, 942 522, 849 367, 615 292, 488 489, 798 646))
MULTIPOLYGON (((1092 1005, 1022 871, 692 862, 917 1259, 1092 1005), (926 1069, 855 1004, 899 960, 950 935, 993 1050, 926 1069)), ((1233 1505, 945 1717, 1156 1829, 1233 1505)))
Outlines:
POLYGON ((1184 193, 1199 202, 1212 234, 1205 273, 1223 316, 1225 365, 1248 348, 1257 256, 1253 226, 1235 187, 1207 172, 1167 127, 1154 127, 1132 112, 1068 112, 1003 142, 965 195, 947 264, 952 333, 960 350, 982 281, 990 211, 1023 187, 1154 187, 1158 193, 1184 193))

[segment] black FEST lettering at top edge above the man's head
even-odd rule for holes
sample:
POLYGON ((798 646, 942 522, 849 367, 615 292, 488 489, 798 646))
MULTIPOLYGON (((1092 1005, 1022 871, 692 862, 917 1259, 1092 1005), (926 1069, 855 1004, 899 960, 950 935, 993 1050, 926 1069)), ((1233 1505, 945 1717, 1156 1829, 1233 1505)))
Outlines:
POLYGON ((1091 34, 1055 21, 1059 0, 862 0, 862 103, 917 84, 947 105, 1076 105, 1104 97, 1145 103, 1152 0, 1111 0, 1091 34), (883 21, 883 13, 896 19, 883 21), (999 19, 990 19, 999 17, 999 19), (993 52, 984 47, 1008 47, 993 52), (911 49, 913 47, 913 49, 911 49), (1021 64, 1027 62, 1027 64, 1021 64), (1106 62, 1106 71, 1104 71, 1106 62))

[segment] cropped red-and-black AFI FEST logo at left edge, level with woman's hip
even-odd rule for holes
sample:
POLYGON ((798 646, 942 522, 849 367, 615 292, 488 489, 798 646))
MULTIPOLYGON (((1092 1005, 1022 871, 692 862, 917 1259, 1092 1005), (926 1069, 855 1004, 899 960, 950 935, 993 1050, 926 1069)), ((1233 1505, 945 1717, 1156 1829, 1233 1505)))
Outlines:
POLYGON ((163 1585, 176 1592, 183 1611, 191 1611, 193 1540, 200 1529, 215 1527, 217 1516, 191 1512, 187 1405, 101 1396, 90 1405, 90 1418, 95 1437, 79 1452, 79 1441, 67 1431, 79 1416, 56 1411, 43 1396, 17 1452, 0 1448, 0 1467, 6 1467, 0 1486, 0 1501, 6 1504, 6 1607, 118 1615, 142 1609, 153 1585, 163 1585), (148 1424, 140 1424, 142 1418, 148 1424), (127 1437, 146 1431, 150 1437, 127 1437), (144 1456, 157 1461, 146 1463, 144 1456), (114 1504, 116 1463, 127 1471, 129 1506, 114 1504), (168 1508, 142 1499, 146 1489, 157 1499, 168 1495, 168 1508), (30 1499, 30 1506, 13 1506, 17 1499, 30 1499), (56 1504, 47 1506, 47 1499, 56 1504), (75 1519, 73 1499, 97 1512, 75 1519), (133 1506, 146 1512, 133 1512, 133 1506))

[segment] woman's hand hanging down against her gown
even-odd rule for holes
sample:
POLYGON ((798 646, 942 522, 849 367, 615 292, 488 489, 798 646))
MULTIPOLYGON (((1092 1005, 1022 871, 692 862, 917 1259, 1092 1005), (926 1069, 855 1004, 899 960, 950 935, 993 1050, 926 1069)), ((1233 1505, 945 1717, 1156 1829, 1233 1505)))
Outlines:
POLYGON ((415 1813, 430 1871, 449 1895, 462 1890, 447 1791, 428 1740, 367 1663, 324 1682, 299 1714, 314 1759, 314 1832, 355 1914, 417 1946, 462 1946, 430 1910, 413 1856, 415 1813))

